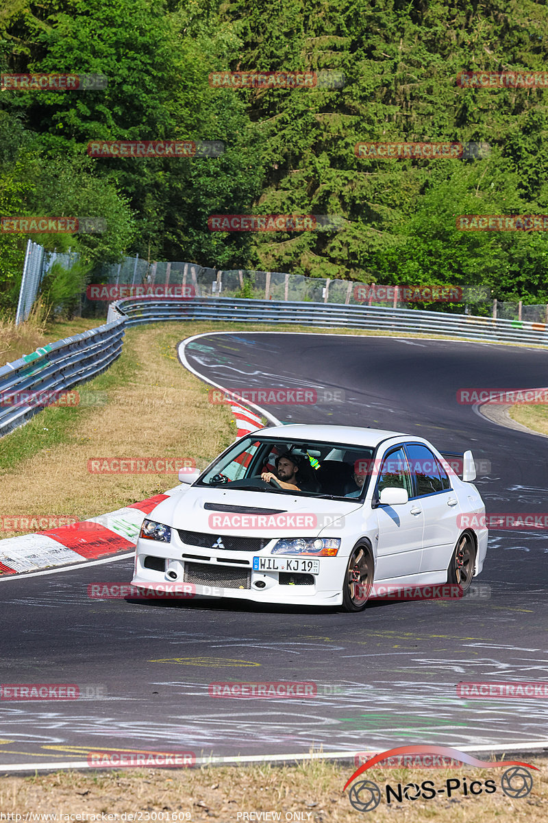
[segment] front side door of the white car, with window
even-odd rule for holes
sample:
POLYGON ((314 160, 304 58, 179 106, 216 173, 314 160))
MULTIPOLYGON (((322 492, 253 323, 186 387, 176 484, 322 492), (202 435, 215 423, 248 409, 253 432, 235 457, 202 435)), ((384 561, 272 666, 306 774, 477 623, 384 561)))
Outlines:
MULTIPOLYGON (((378 501, 380 491, 390 486, 405 489, 412 498, 412 477, 403 446, 390 450, 383 458, 373 500, 378 501)), ((378 504, 375 511, 379 527, 375 583, 417 574, 424 523, 420 501, 409 500, 397 506, 378 504)))

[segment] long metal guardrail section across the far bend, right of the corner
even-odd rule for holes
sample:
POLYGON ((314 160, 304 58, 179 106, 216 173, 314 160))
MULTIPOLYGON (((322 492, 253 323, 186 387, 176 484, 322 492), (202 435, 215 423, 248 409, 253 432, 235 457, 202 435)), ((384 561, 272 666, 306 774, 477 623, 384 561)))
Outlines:
POLYGON ((235 298, 189 298, 187 300, 117 300, 108 309, 108 319, 123 317, 128 326, 166 320, 223 320, 239 323, 297 323, 318 328, 363 328, 386 332, 458 337, 460 340, 532 343, 548 346, 545 323, 444 314, 415 309, 383 309, 334 303, 301 303, 235 298))

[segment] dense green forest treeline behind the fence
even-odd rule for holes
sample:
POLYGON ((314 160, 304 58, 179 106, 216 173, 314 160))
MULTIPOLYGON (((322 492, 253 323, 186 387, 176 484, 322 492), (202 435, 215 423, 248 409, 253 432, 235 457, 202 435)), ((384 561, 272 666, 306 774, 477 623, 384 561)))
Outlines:
POLYGON ((2 74, 107 84, 4 82, 0 216, 101 216, 107 228, 0 233, 0 310, 14 305, 30 236, 80 251, 88 273, 139 253, 548 302, 545 231, 456 227, 458 215, 548 214, 547 39, 548 8, 533 0, 4 0, 2 74), (547 82, 459 85, 480 70, 546 72, 547 82), (344 82, 235 88, 212 84, 212 72, 334 72, 344 82), (224 151, 88 155, 91 141, 121 140, 220 141, 224 151), (479 149, 357 156, 360 142, 479 149), (211 231, 208 218, 226 214, 331 215, 337 227, 211 231))

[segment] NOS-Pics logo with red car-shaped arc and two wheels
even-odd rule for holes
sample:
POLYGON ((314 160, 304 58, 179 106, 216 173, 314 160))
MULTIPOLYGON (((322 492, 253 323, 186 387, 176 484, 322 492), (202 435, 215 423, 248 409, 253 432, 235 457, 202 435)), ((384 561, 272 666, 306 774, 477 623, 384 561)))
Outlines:
MULTIPOLYGON (((407 759, 407 758, 406 758, 407 759)), ((405 763, 404 763, 405 765, 405 763)), ((414 765, 421 765, 421 757, 417 757, 414 765), (418 761, 418 763, 417 763, 418 761)), ((424 764, 423 764, 424 765, 424 764)), ((523 763, 520 760, 499 760, 491 762, 489 760, 477 760, 476 757, 467 755, 458 749, 449 746, 398 746, 396 749, 381 751, 378 755, 366 760, 360 766, 344 786, 344 791, 350 786, 348 800, 357 811, 373 811, 380 805, 383 794, 388 804, 392 802, 403 802, 406 800, 432 800, 437 795, 441 797, 453 797, 455 793, 479 797, 481 794, 493 794, 502 791, 507 797, 520 798, 527 797, 532 790, 532 774, 529 769, 538 771, 536 766, 530 763, 523 763), (400 758, 405 755, 428 756, 424 760, 432 760, 432 756, 440 758, 451 758, 460 763, 476 766, 481 769, 494 769, 506 767, 500 778, 500 786, 495 779, 470 780, 468 778, 448 778, 439 783, 434 780, 423 780, 421 783, 386 783, 384 791, 372 780, 361 779, 357 783, 352 783, 372 766, 389 758, 400 758)))

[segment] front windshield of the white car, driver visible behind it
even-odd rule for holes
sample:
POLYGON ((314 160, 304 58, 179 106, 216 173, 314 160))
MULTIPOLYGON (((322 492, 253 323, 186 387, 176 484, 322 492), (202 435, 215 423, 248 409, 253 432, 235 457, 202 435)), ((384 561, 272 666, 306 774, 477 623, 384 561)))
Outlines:
POLYGON ((249 435, 215 460, 199 486, 223 486, 312 497, 359 498, 373 449, 249 435))

